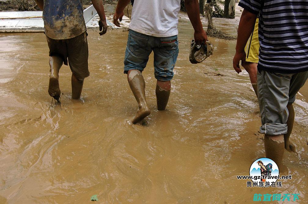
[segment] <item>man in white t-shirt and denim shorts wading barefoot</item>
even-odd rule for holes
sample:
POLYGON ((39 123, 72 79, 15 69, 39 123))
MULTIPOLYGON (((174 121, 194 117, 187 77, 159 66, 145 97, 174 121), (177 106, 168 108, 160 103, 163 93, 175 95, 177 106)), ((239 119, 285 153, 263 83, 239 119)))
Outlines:
MULTIPOLYGON (((120 27, 123 10, 130 0, 119 0, 113 22, 120 27)), ((207 35, 202 28, 198 0, 185 0, 188 17, 195 30, 197 44, 205 43, 207 35)), ((154 52, 154 75, 156 83, 157 110, 165 110, 170 90, 170 80, 179 53, 178 49, 178 13, 180 0, 134 0, 132 18, 129 25, 128 41, 124 59, 124 73, 137 100, 138 110, 132 123, 147 117, 151 110, 145 97, 145 82, 142 71, 147 65, 149 55, 154 52)))

